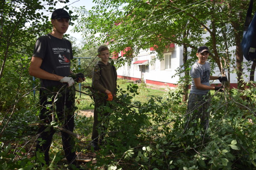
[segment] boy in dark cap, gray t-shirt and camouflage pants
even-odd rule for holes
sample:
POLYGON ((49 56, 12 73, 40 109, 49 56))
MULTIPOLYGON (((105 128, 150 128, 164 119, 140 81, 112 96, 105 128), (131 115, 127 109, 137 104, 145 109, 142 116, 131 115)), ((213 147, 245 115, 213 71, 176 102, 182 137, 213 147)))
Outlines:
POLYGON ((190 75, 193 78, 191 83, 191 91, 188 97, 187 117, 185 129, 194 127, 196 128, 195 120, 201 120, 201 128, 207 130, 209 125, 209 115, 207 111, 210 106, 208 94, 209 90, 223 91, 223 86, 213 87, 210 86, 209 80, 228 81, 226 77, 217 77, 210 75, 210 63, 207 61, 209 57, 209 49, 206 46, 198 48, 197 53, 198 61, 194 63, 190 70, 190 75))

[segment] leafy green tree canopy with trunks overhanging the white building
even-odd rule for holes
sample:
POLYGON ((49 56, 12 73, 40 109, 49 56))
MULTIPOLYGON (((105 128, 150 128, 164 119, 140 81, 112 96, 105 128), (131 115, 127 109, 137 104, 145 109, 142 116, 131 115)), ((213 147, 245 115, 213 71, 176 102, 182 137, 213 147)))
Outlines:
MULTIPOLYGON (((191 56, 194 56, 199 45, 206 44, 211 49, 213 61, 222 71, 222 75, 225 75, 222 62, 224 60, 221 60, 224 56, 220 54, 236 45, 238 82, 241 84, 240 41, 241 23, 243 23, 241 19, 245 16, 248 2, 243 0, 110 0, 107 2, 96 0, 95 2, 97 5, 93 10, 81 9, 81 16, 84 17, 76 28, 89 35, 88 39, 112 42, 112 49, 115 51, 131 47, 135 55, 140 49, 157 46, 159 57, 171 42, 190 47, 191 56), (187 37, 183 37, 184 28, 190 30, 187 37), (100 36, 95 36, 96 33, 100 36)), ((224 59, 229 61, 228 57, 227 54, 224 59)))

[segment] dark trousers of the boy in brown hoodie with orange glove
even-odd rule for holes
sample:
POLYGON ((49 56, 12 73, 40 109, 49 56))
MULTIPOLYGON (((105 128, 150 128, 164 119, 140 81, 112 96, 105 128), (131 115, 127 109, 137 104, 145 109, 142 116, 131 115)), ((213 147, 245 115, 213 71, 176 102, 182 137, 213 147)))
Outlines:
POLYGON ((105 134, 102 134, 102 131, 107 130, 107 126, 109 123, 108 115, 110 113, 102 113, 100 106, 108 105, 104 98, 96 98, 94 99, 94 124, 92 127, 92 142, 98 143, 98 139, 100 142, 104 138, 105 134), (100 134, 99 134, 100 132, 100 134))

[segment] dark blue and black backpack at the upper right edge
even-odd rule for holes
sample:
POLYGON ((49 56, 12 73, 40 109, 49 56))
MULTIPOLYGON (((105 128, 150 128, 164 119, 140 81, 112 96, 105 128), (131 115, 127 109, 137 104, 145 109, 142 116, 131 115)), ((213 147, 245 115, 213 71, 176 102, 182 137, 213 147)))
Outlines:
POLYGON ((247 61, 256 62, 256 15, 254 15, 251 21, 252 5, 253 0, 250 1, 250 6, 247 11, 244 26, 244 36, 241 46, 245 59, 247 61))

